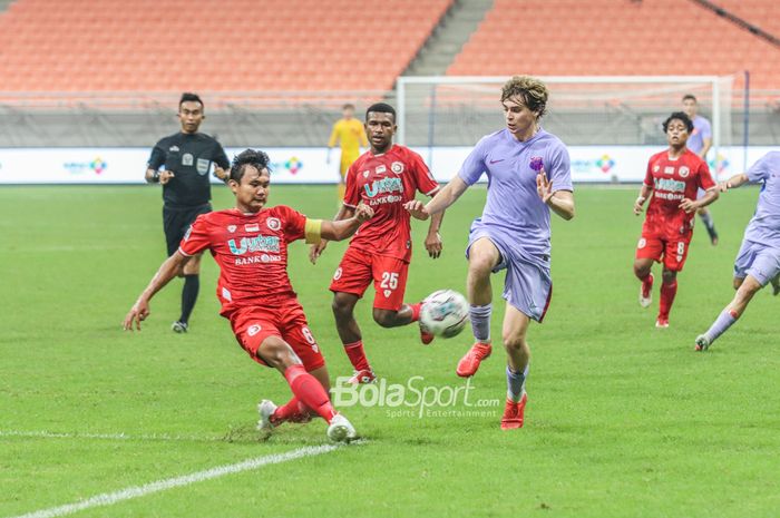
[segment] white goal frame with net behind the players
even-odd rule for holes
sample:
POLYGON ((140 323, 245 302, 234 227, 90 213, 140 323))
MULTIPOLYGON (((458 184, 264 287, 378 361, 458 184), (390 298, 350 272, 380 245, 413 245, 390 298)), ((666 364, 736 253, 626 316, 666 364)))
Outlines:
MULTIPOLYGON (((396 84, 399 144, 420 148, 474 146, 503 127, 500 88, 509 77, 400 77, 396 84)), ((693 94, 712 126, 708 157, 718 170, 731 145, 732 76, 542 76, 549 89, 543 125, 575 146, 659 146, 661 123, 693 94)))

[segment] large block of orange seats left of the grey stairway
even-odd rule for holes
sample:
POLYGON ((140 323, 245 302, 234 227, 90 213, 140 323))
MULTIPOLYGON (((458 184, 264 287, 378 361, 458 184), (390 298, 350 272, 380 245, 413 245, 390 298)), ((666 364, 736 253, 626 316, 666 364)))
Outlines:
POLYGON ((17 0, 0 77, 9 91, 386 90, 452 1, 17 0))

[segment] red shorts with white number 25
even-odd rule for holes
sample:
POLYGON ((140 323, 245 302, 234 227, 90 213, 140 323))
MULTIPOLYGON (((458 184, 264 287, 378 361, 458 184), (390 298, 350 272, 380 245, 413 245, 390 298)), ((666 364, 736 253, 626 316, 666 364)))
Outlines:
POLYGON ((379 310, 398 311, 403 305, 408 272, 409 263, 406 261, 372 255, 350 246, 333 274, 330 290, 362 297, 373 281, 377 292, 373 306, 379 310))

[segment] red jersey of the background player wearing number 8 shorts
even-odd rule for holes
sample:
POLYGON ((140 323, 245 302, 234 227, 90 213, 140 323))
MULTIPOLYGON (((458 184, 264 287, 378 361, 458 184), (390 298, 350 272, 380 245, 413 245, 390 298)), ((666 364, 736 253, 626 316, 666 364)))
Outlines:
POLYGON ((644 185, 653 188, 653 197, 647 206, 643 232, 669 238, 688 235, 693 229, 693 217, 680 208, 684 198, 696 199, 700 188, 706 190, 715 186, 710 168, 695 153, 686 149, 676 159, 669 158, 664 150, 653 155, 647 162, 644 185))

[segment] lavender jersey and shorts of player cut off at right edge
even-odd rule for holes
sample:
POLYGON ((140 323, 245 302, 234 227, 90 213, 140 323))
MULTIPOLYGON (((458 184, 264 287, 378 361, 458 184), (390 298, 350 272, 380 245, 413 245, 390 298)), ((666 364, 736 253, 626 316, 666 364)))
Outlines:
POLYGON ((762 286, 780 273, 780 152, 770 152, 745 173, 763 183, 755 214, 744 231, 734 276, 753 276, 762 286))

